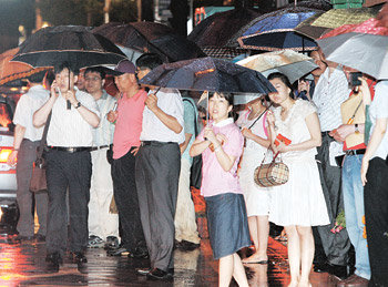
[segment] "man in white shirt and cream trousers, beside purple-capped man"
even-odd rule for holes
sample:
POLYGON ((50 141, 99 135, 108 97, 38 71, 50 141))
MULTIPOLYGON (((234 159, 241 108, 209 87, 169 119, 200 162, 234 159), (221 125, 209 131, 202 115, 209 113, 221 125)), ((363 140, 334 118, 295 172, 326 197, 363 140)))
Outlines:
POLYGON ((106 114, 113 110, 116 100, 103 89, 105 72, 101 66, 88 68, 84 73, 85 89, 99 105, 101 121, 93 130, 92 181, 89 202, 89 243, 90 248, 119 246, 119 216, 110 213, 113 197, 111 165, 106 152, 113 144, 114 124, 109 122, 106 114))

